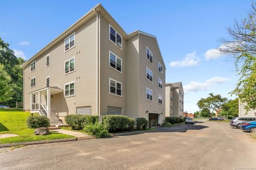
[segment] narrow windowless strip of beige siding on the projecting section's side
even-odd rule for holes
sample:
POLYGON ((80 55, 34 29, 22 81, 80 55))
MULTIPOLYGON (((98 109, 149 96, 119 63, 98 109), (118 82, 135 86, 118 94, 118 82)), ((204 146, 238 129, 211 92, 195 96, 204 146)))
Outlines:
POLYGON ((127 116, 137 118, 139 114, 139 37, 127 40, 127 116))

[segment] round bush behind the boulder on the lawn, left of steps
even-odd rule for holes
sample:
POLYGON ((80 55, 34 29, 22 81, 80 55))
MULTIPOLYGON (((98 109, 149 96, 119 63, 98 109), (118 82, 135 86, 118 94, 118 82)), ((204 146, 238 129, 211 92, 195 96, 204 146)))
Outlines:
POLYGON ((28 128, 42 128, 50 126, 50 119, 45 116, 29 116, 27 119, 28 128))

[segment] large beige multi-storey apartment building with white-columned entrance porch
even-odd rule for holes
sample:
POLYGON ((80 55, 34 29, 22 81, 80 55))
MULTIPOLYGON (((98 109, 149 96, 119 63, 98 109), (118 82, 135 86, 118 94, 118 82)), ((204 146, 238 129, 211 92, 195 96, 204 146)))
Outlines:
POLYGON ((127 34, 101 4, 23 67, 26 111, 165 119, 165 65, 155 36, 127 34))

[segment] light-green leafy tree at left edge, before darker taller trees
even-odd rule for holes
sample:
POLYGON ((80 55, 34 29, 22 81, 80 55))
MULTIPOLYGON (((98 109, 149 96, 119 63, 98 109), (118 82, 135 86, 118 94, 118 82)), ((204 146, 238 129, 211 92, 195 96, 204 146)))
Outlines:
POLYGON ((4 70, 4 66, 0 64, 0 103, 12 99, 13 84, 11 84, 10 75, 4 70))

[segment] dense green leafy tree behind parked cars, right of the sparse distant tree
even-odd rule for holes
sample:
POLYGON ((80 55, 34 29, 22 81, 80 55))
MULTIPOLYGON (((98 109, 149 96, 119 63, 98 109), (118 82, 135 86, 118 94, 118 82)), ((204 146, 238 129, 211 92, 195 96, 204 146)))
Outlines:
POLYGON ((238 116, 238 107, 239 107, 238 105, 239 105, 238 98, 234 100, 229 100, 227 103, 222 105, 221 115, 222 116, 230 115, 233 117, 238 116))

